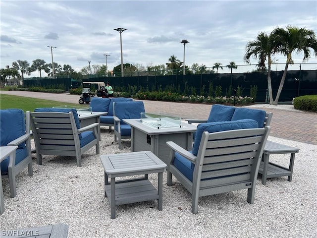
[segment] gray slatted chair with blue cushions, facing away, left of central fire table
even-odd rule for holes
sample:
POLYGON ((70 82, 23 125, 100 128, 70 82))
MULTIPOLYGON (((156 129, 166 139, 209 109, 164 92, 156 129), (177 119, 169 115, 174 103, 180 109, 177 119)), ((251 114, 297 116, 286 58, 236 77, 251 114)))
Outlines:
POLYGON ((81 155, 96 146, 99 154, 98 123, 80 127, 76 109, 36 109, 31 116, 37 163, 42 155, 76 156, 81 166, 81 155), (58 112, 60 111, 60 112, 58 112))

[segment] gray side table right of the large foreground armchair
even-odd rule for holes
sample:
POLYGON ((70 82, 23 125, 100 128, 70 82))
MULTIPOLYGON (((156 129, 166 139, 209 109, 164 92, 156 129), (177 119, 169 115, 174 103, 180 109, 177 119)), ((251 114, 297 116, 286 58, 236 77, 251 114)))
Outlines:
POLYGON ((263 151, 263 161, 260 164, 259 173, 262 174, 262 184, 266 184, 268 178, 278 178, 282 176, 288 176, 287 180, 292 181, 293 167, 295 160, 295 153, 298 153, 299 148, 288 145, 279 144, 273 141, 267 140, 263 151), (269 155, 272 154, 291 154, 289 167, 269 162, 269 155))

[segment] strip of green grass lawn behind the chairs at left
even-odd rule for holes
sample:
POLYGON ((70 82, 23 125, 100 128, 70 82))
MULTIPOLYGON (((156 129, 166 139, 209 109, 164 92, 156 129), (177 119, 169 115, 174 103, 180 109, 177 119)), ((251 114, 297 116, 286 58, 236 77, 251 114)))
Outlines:
POLYGON ((8 109, 8 108, 19 108, 24 112, 30 111, 34 112, 36 108, 52 108, 56 106, 71 106, 74 108, 78 107, 78 104, 73 103, 60 103, 52 100, 44 100, 38 98, 27 98, 13 95, 0 95, 0 109, 8 109))

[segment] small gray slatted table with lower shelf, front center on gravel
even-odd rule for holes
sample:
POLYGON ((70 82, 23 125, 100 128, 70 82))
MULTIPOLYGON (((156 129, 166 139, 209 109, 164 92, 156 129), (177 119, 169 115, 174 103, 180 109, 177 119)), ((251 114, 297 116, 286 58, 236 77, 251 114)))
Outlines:
POLYGON ((135 202, 158 200, 162 210, 163 172, 166 164, 151 151, 101 155, 105 169, 105 197, 111 207, 111 219, 115 219, 115 206, 135 202), (148 179, 148 174, 158 173, 158 189, 148 179), (141 178, 115 181, 117 177, 143 175, 141 178), (110 178, 110 183, 108 181, 110 178))

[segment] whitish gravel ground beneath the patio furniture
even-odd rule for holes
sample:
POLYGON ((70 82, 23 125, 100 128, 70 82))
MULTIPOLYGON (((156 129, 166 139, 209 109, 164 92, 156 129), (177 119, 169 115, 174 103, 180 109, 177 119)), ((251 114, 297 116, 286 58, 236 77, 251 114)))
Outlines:
MULTIPOLYGON (((157 201, 116 207, 104 196, 104 170, 95 147, 82 157, 43 156, 43 165, 33 155, 33 177, 27 169, 16 176, 17 196, 10 198, 3 179, 5 212, 1 230, 66 223, 69 238, 105 237, 225 237, 225 238, 313 238, 317 237, 316 145, 269 136, 269 140, 300 148, 295 157, 292 182, 287 177, 257 180, 255 202, 247 203, 247 190, 202 197, 198 214, 191 212, 190 193, 173 178, 163 177, 163 210, 157 201)), ((33 143, 33 142, 32 142, 33 143)), ((34 143, 32 145, 34 147, 34 143)), ((130 151, 130 140, 118 150, 113 134, 102 127, 101 154, 130 151)), ((270 161, 287 166, 289 155, 271 155, 270 161)), ((157 174, 149 175, 157 186, 157 174)))

